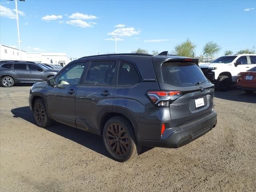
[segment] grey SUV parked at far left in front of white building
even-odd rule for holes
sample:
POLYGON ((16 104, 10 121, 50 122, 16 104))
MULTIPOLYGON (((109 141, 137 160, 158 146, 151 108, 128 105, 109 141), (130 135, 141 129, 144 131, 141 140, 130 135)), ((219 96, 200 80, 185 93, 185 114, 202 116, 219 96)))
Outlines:
POLYGON ((28 61, 0 61, 0 79, 4 87, 18 83, 36 83, 54 77, 59 70, 28 61))

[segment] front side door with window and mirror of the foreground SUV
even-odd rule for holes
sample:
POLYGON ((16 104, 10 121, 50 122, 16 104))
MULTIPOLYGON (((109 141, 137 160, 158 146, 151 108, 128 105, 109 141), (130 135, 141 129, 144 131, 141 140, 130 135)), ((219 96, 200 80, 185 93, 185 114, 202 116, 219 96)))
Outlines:
POLYGON ((67 66, 55 77, 56 86, 48 86, 49 115, 56 121, 76 127, 75 96, 86 62, 67 66))

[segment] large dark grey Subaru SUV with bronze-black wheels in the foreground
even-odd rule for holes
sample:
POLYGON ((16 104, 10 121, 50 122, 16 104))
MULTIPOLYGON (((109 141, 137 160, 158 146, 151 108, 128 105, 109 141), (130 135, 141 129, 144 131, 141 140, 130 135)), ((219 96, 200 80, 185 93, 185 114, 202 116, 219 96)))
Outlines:
POLYGON ((217 123, 214 85, 198 59, 180 56, 83 57, 34 84, 29 104, 38 126, 55 120, 102 135, 106 150, 120 162, 142 146, 188 144, 217 123))

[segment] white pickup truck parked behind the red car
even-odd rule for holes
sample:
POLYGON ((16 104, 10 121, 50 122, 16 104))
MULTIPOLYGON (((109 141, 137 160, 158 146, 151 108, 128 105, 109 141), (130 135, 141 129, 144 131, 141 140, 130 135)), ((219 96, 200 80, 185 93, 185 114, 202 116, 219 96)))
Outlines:
POLYGON ((240 54, 222 56, 211 63, 202 64, 202 72, 212 83, 216 83, 217 90, 229 90, 236 82, 237 74, 256 66, 256 54, 240 54))

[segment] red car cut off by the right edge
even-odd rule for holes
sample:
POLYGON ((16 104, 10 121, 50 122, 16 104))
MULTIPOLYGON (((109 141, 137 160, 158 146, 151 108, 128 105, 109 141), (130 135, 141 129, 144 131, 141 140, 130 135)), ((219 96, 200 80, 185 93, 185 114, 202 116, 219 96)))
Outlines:
POLYGON ((236 87, 243 89, 246 93, 253 93, 256 91, 256 67, 253 67, 246 72, 238 73, 236 87))

